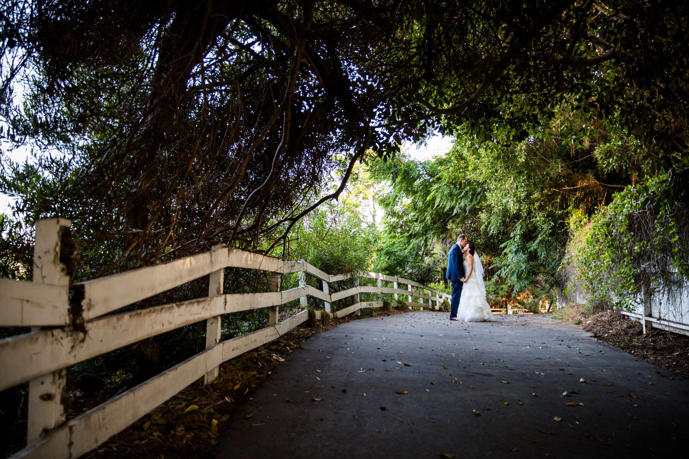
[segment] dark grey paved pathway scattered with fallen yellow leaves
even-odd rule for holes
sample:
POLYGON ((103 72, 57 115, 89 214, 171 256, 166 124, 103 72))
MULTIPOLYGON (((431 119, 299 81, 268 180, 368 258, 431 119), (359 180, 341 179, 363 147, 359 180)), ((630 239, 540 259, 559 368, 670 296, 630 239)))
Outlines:
POLYGON ((689 445, 689 381, 544 316, 351 321, 273 373, 212 457, 655 457, 689 445))

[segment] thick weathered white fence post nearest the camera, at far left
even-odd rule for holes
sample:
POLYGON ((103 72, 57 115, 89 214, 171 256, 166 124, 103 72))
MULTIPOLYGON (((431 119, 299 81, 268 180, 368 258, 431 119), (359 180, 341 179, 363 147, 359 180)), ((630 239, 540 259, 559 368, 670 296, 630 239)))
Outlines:
MULTIPOLYGON (((68 290, 70 276, 67 266, 61 262, 62 235, 71 231, 72 222, 64 218, 51 218, 36 222, 34 242, 34 278, 38 284, 53 284, 68 290)), ((69 305, 65 303, 65 310, 69 305)), ((40 330, 32 327, 31 331, 40 330)), ((41 434, 61 424, 65 420, 65 407, 62 399, 67 385, 67 371, 62 368, 29 381, 28 423, 26 442, 39 440, 41 434)))

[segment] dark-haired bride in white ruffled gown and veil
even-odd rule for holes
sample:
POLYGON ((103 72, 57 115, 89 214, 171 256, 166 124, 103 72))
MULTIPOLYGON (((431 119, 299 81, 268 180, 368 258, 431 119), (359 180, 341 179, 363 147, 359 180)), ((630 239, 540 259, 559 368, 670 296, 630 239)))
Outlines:
POLYGON ((474 250, 474 244, 469 242, 462 251, 464 258, 464 282, 457 319, 462 322, 484 322, 493 319, 491 306, 486 301, 486 286, 483 283, 483 265, 481 258, 474 250))

